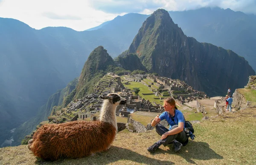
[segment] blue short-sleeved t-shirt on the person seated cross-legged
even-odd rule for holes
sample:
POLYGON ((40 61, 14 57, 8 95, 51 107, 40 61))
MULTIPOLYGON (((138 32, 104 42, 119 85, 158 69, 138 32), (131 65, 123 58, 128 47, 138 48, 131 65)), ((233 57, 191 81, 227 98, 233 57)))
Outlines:
MULTIPOLYGON (((175 122, 172 121, 172 119, 169 117, 169 114, 168 114, 168 113, 169 113, 169 112, 166 112, 166 111, 163 112, 163 114, 161 114, 161 115, 159 116, 159 119, 160 119, 160 120, 166 119, 166 121, 167 121, 167 122, 169 123, 169 125, 170 125, 169 130, 171 130, 171 128, 172 128, 173 125, 178 125, 179 122, 183 122, 183 123, 184 123, 184 128, 185 128, 185 119, 184 119, 184 116, 183 116, 183 114, 182 114, 181 111, 175 109, 175 116, 172 117, 175 122), (175 123, 176 123, 176 124, 175 124, 175 123)), ((170 114, 170 116, 171 116, 171 114, 170 114)))

